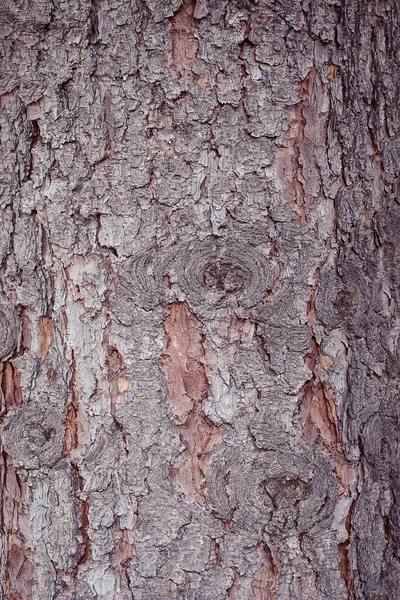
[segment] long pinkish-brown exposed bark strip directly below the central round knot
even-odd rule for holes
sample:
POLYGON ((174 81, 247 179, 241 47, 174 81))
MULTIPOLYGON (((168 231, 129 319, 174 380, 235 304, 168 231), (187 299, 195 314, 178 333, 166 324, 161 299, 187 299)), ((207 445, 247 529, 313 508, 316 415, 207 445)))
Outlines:
POLYGON ((198 319, 185 304, 174 303, 164 322, 167 335, 164 373, 167 395, 179 422, 186 449, 171 476, 188 500, 204 506, 211 451, 222 441, 222 430, 203 412, 209 384, 198 319))

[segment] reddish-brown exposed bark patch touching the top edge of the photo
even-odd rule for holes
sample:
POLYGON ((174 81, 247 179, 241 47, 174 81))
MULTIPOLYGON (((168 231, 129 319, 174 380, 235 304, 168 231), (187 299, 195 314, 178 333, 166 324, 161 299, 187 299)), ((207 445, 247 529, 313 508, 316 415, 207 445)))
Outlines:
POLYGON ((190 69, 196 59, 199 43, 194 37, 195 7, 196 0, 183 0, 182 6, 171 19, 167 54, 167 64, 171 71, 181 73, 190 69))

